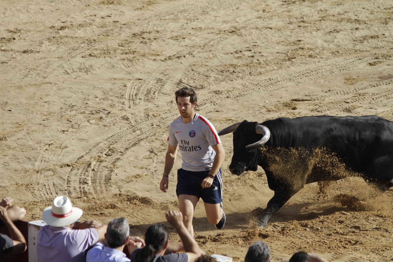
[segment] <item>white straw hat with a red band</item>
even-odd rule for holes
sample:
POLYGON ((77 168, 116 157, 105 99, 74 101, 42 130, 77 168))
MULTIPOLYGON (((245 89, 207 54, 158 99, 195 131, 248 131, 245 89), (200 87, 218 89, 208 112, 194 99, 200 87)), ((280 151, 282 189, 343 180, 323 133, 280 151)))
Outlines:
POLYGON ((77 221, 83 214, 82 209, 72 207, 66 196, 58 196, 53 200, 52 206, 42 212, 42 220, 53 227, 66 227, 77 221))

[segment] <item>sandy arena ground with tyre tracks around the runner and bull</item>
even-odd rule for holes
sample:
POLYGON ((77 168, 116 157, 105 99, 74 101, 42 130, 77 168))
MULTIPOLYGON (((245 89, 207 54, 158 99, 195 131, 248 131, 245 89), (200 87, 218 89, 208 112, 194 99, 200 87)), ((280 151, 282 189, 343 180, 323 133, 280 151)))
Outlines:
MULTIPOLYGON (((194 88, 218 130, 283 116, 393 120, 392 32, 393 3, 382 0, 2 0, 2 195, 40 219, 65 194, 83 218, 124 216, 142 235, 177 206, 175 172, 167 194, 158 188, 175 90, 194 88)), ((357 178, 307 185, 251 228, 273 192, 261 168, 230 174, 231 137, 224 230, 196 207, 206 252, 239 262, 263 239, 272 261, 298 250, 393 260, 393 190, 357 178)))

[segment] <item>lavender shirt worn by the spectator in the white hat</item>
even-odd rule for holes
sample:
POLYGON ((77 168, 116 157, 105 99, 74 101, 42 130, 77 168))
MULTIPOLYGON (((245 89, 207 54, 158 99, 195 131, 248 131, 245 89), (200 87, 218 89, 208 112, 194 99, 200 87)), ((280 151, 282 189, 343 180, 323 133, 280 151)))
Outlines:
POLYGON ((85 262, 85 251, 98 241, 94 228, 70 229, 46 225, 37 236, 37 258, 40 262, 85 262))

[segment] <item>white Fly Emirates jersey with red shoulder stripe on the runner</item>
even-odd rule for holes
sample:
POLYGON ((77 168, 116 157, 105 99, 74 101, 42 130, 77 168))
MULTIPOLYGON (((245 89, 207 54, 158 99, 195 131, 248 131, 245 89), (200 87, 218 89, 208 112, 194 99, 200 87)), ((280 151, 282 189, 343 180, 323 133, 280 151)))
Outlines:
POLYGON ((169 125, 169 145, 179 145, 182 154, 182 169, 188 171, 210 170, 216 155, 214 145, 221 143, 214 126, 200 114, 190 123, 178 117, 169 125))

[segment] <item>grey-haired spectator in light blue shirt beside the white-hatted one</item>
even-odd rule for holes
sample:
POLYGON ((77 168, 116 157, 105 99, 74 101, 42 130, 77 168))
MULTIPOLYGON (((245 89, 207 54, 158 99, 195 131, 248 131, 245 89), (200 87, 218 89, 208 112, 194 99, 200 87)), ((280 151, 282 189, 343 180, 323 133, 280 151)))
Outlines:
POLYGON ((105 240, 98 242, 87 252, 86 262, 130 262, 131 260, 123 253, 125 245, 131 254, 134 246, 145 246, 145 242, 138 237, 130 236, 127 219, 112 219, 108 224, 105 240))

